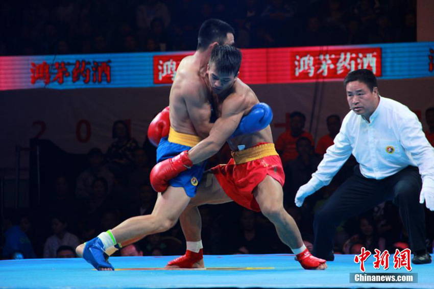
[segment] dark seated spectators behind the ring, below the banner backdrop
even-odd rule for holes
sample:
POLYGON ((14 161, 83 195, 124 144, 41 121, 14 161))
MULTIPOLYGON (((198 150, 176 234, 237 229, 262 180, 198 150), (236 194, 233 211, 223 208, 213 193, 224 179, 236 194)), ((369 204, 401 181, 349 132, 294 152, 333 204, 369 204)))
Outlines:
MULTIPOLYGON (((351 174, 356 164, 350 158, 332 182, 308 197, 301 208, 294 204, 298 188, 305 184, 341 127, 339 115, 325 121, 328 133, 315 144, 312 135, 304 130, 306 117, 294 111, 290 126, 275 138, 285 170, 284 206, 300 228, 306 246, 313 243, 314 214, 334 190, 351 174)), ((434 107, 425 111, 428 130, 425 132, 434 145, 434 107)), ((7 210, 2 223, 4 239, 0 243, 2 257, 67 258, 76 257, 75 247, 118 225, 131 216, 150 214, 157 193, 149 182, 155 164, 156 149, 146 140, 139 144, 130 135, 128 124, 117 121, 112 129, 113 142, 103 152, 93 148, 87 153, 88 167, 76 179, 59 171, 52 180, 51 191, 43 192, 42 202, 31 210, 7 210)), ((276 137, 276 136, 275 136, 276 137)), ((226 163, 230 158, 227 146, 208 160, 207 167, 226 163)), ((68 164, 65 164, 66 166, 68 164)), ((270 223, 261 213, 244 209, 235 203, 200 207, 204 254, 261 254, 291 253, 284 246, 270 223)), ((426 210, 426 227, 434 227, 434 214, 426 210)), ((426 245, 432 252, 434 232, 427 230, 426 245)), ((334 252, 357 254, 360 248, 384 249, 394 252, 408 248, 407 232, 399 212, 391 202, 379 204, 357 218, 350 219, 337 229, 334 252)), ((185 239, 179 223, 171 230, 149 235, 132 246, 117 252, 122 256, 180 255, 185 239)))

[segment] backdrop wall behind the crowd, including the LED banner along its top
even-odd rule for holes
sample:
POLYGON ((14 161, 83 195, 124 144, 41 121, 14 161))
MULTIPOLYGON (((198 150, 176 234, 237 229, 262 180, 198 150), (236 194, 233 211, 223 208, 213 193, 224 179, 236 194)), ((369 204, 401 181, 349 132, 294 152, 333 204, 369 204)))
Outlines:
MULTIPOLYGON (((348 112, 342 79, 357 68, 373 70, 381 95, 423 116, 434 106, 433 49, 434 42, 243 50, 240 78, 272 107, 275 139, 299 110, 318 140, 327 115, 348 112)), ((142 143, 168 104, 180 59, 191 53, 0 57, 0 168, 12 169, 15 146, 34 137, 71 153, 105 151, 117 119, 142 143)))

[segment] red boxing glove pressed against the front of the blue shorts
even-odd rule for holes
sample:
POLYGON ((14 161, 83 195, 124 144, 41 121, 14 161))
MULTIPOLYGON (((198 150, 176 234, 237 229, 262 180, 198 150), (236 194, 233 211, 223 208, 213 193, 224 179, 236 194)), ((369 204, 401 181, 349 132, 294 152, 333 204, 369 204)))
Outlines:
POLYGON ((157 163, 149 176, 152 188, 155 191, 163 192, 169 186, 169 181, 188 168, 191 168, 193 163, 188 158, 188 151, 183 151, 176 157, 165 159, 157 163))

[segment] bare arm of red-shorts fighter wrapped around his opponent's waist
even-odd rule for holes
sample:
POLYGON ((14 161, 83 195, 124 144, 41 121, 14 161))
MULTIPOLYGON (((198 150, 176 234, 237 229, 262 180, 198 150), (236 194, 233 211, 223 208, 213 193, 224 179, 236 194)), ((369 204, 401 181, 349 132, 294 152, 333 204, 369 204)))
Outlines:
POLYGON ((209 136, 188 151, 192 163, 199 163, 213 156, 238 127, 248 103, 244 95, 231 94, 223 102, 222 116, 217 119, 209 136))

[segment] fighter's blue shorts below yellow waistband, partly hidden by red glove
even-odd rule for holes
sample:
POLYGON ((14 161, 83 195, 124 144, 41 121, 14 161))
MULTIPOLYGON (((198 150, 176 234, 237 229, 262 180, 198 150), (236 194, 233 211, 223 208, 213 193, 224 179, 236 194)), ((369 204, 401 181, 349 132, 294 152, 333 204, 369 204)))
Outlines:
MULTIPOLYGON (((157 148, 157 162, 172 158, 188 151, 191 147, 183 146, 182 144, 170 142, 167 137, 161 138, 157 148)), ((169 181, 173 187, 183 187, 187 196, 193 198, 196 196, 196 189, 202 178, 205 170, 206 161, 193 165, 189 170, 186 170, 169 181)))

